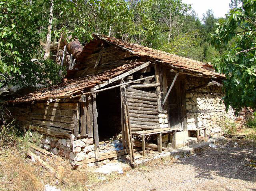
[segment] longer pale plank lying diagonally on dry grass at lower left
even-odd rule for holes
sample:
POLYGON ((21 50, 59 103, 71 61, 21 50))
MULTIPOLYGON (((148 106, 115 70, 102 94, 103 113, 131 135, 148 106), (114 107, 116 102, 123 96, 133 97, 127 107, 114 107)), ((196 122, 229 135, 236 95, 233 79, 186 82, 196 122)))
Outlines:
POLYGON ((33 154, 32 152, 28 151, 28 155, 34 159, 35 161, 37 161, 40 165, 42 165, 42 167, 44 167, 46 170, 48 170, 50 173, 54 174, 54 176, 62 181, 64 184, 68 185, 68 186, 72 186, 72 182, 70 182, 68 179, 66 179, 65 177, 61 177, 58 172, 52 168, 50 165, 48 165, 46 162, 44 162, 42 159, 40 159, 40 157, 36 156, 35 154, 33 154))

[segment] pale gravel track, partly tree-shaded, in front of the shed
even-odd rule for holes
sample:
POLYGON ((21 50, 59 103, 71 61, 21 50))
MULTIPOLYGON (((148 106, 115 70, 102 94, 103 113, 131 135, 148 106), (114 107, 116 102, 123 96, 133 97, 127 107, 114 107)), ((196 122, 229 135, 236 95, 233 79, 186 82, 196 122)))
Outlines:
POLYGON ((136 167, 94 189, 97 191, 214 190, 256 191, 255 144, 218 144, 179 159, 163 159, 136 167), (128 175, 127 175, 128 173, 128 175))

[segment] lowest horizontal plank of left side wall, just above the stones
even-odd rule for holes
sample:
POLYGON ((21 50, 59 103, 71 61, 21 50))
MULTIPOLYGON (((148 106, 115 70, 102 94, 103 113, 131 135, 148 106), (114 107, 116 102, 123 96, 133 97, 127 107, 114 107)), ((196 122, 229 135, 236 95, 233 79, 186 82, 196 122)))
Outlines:
POLYGON ((55 136, 55 137, 60 137, 60 138, 67 138, 67 139, 70 138, 70 134, 68 134, 68 133, 58 132, 58 131, 55 131, 55 130, 50 130, 50 129, 39 127, 39 126, 26 125, 26 126, 23 126, 23 128, 38 131, 40 133, 44 133, 44 134, 47 134, 47 135, 50 135, 50 136, 55 136))

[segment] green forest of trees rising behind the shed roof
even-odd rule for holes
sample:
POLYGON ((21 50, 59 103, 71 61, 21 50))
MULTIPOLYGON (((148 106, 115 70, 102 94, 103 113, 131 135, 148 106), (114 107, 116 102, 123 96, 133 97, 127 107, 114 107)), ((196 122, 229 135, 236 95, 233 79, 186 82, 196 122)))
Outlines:
POLYGON ((58 42, 60 33, 83 45, 100 33, 211 62, 220 54, 210 44, 220 19, 208 10, 200 20, 181 0, 1 0, 0 85, 58 83, 61 67, 40 42, 58 42))

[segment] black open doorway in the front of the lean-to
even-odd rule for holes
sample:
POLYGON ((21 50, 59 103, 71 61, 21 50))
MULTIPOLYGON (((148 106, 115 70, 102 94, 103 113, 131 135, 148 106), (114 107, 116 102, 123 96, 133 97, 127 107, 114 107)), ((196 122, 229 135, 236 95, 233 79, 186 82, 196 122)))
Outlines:
POLYGON ((104 141, 122 131, 120 88, 102 91, 96 97, 99 140, 104 141))

